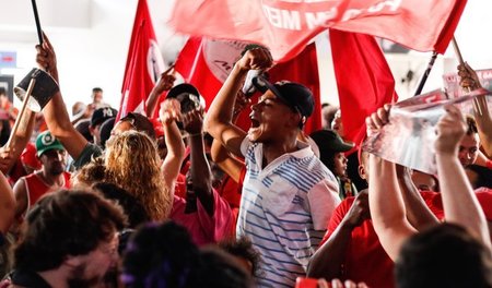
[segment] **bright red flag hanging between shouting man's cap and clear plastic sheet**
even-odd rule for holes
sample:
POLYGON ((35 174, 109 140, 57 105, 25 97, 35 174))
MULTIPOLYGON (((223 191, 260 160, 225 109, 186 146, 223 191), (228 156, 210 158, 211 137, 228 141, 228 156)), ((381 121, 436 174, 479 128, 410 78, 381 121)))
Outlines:
POLYGON ((397 100, 395 80, 373 36, 339 31, 329 35, 344 139, 361 143, 365 118, 397 100))

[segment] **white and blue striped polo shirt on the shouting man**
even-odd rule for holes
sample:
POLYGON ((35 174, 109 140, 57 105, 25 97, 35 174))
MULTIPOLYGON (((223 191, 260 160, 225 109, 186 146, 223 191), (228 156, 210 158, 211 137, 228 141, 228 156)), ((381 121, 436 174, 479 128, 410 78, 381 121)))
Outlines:
POLYGON ((262 144, 242 144, 246 160, 237 237, 246 236, 260 252, 258 287, 294 287, 304 276, 327 223, 340 203, 333 175, 297 142, 261 168, 262 144))

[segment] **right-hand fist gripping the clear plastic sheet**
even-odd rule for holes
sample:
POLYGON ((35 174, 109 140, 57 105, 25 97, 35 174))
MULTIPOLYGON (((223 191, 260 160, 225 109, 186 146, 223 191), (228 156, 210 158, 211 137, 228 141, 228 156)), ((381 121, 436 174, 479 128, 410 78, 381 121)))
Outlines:
POLYGON ((447 105, 444 109, 446 112, 435 128, 437 139, 434 147, 438 154, 457 155, 459 142, 467 131, 467 125, 461 111, 456 106, 447 105))

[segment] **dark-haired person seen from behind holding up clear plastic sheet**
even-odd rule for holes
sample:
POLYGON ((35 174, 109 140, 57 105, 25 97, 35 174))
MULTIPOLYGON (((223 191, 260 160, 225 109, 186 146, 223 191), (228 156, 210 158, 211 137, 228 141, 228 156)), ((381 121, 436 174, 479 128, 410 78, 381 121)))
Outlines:
MULTIPOLYGON (((388 123, 388 115, 385 106, 367 117, 367 133, 388 123)), ((465 132, 460 110, 445 106, 434 147, 446 224, 419 235, 407 219, 395 164, 370 156, 371 216, 383 248, 396 261, 397 287, 492 287, 487 220, 457 157, 465 132)))

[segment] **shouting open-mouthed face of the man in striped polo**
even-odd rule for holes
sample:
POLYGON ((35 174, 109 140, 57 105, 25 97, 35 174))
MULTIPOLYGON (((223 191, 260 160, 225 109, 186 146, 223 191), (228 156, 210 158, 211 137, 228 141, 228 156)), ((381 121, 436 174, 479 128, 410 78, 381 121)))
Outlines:
POLYGON ((286 131, 296 128, 296 123, 300 121, 300 115, 286 106, 271 91, 267 91, 258 99, 258 103, 251 106, 249 118, 251 119, 251 127, 247 137, 251 142, 261 143, 283 139, 286 131), (297 119, 297 122, 295 122, 294 118, 297 119))

